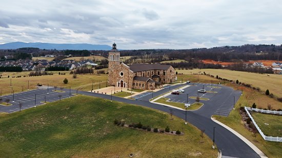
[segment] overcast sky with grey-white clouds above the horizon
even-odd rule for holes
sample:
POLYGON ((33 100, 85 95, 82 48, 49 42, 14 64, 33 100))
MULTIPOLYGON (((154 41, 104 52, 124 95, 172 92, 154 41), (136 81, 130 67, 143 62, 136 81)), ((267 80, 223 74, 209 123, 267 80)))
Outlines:
POLYGON ((190 49, 281 40, 278 0, 1 0, 0 43, 190 49))

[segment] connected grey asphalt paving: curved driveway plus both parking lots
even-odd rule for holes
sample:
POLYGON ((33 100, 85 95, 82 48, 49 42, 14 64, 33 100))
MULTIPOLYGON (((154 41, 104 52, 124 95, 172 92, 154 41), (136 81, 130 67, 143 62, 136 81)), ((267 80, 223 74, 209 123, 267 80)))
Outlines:
MULTIPOLYGON (((167 86, 166 88, 153 93, 153 97, 167 93, 170 91, 170 89, 177 89, 180 86, 182 86, 182 84, 173 85, 170 88, 169 86, 167 86)), ((190 86, 189 88, 185 89, 185 91, 187 91, 187 93, 191 91, 191 95, 192 95, 195 90, 199 88, 202 89, 201 86, 203 85, 194 84, 194 86, 190 86)), ((209 85, 205 85, 205 86, 208 87, 209 85)), ((240 95, 239 92, 233 91, 233 89, 229 87, 225 87, 225 86, 220 86, 220 87, 221 87, 220 89, 215 90, 218 92, 217 94, 212 95, 212 96, 205 96, 205 98, 210 97, 210 100, 206 101, 205 105, 202 108, 200 108, 199 110, 195 110, 195 111, 187 111, 187 121, 199 129, 205 129, 205 133, 211 139, 213 139, 213 129, 215 127, 215 133, 214 133, 215 134, 215 143, 217 145, 217 148, 222 152, 223 156, 259 157, 259 155, 252 148, 250 148, 245 142, 240 140, 237 136, 235 136, 232 132, 230 132, 226 128, 218 125, 217 123, 211 120, 210 116, 213 114, 217 114, 217 112, 220 109, 223 109, 223 107, 230 108, 230 105, 231 105, 230 98, 232 99, 233 96, 236 96, 236 101, 237 101, 237 98, 240 95), (226 106, 226 103, 228 104, 228 106, 226 106)), ((42 103, 40 102, 45 101, 45 97, 47 101, 52 102, 52 101, 59 100, 58 95, 62 95, 61 99, 64 99, 64 98, 69 98, 70 94, 77 93, 77 91, 73 89, 71 90, 63 89, 63 91, 65 91, 64 93, 53 92, 52 90, 54 89, 50 88, 48 90, 49 94, 47 94, 47 89, 35 89, 32 91, 17 93, 17 94, 14 94, 14 102, 12 102, 13 95, 1 96, 4 101, 5 99, 10 99, 11 100, 10 103, 12 103, 13 105, 7 106, 7 107, 0 106, 0 111, 6 111, 6 112, 18 111, 19 110, 18 102, 22 102, 23 104, 22 107, 23 109, 25 109, 25 108, 33 107, 34 104, 36 104, 36 106, 42 105, 42 103), (36 102, 35 102, 35 94, 36 94, 36 102)), ((78 91, 78 94, 105 98, 109 100, 111 99, 110 95, 105 95, 105 94, 97 94, 97 93, 84 92, 84 91, 78 91)), ((185 96, 185 94, 183 96, 185 96)), ((150 107, 150 108, 162 110, 168 113, 170 112, 170 109, 172 109, 171 107, 168 107, 168 106, 150 103, 148 100, 151 98, 152 98, 152 95, 146 95, 146 96, 140 97, 138 98, 138 100, 129 100, 125 98, 119 98, 119 97, 112 96, 112 100, 114 101, 120 101, 124 103, 150 107)), ((183 98, 184 97, 182 97, 182 99, 183 98)), ((232 103, 232 107, 233 107, 233 103, 232 103)), ((223 111, 220 114, 223 115, 223 111)), ((173 109, 173 115, 179 118, 185 119, 184 110, 173 109)), ((195 136, 195 137, 198 137, 198 136, 195 136)))

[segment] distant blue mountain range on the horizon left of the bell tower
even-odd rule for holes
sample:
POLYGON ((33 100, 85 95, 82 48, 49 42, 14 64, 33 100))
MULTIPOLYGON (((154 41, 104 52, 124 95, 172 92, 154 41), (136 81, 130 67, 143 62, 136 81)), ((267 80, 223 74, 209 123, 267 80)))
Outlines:
POLYGON ((77 44, 58 44, 58 43, 26 43, 26 42, 11 42, 0 44, 0 49, 18 49, 18 48, 39 48, 39 49, 56 49, 56 50, 111 50, 112 47, 106 44, 87 44, 87 43, 77 43, 77 44))

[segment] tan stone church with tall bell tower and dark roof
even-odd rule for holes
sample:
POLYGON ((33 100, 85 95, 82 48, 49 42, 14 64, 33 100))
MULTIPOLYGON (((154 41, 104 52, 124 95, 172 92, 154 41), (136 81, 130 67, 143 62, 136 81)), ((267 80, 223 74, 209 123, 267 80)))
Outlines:
POLYGON ((138 63, 129 66, 119 58, 120 52, 113 43, 108 58, 109 86, 153 90, 175 80, 175 70, 171 65, 138 63))

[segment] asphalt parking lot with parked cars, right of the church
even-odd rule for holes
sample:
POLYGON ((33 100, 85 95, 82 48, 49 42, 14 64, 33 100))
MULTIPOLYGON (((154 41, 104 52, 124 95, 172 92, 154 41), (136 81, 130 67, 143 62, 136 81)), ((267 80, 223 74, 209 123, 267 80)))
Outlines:
POLYGON ((184 89, 184 93, 179 95, 169 95, 166 98, 169 98, 171 102, 177 103, 189 103, 192 104, 195 102, 195 99, 189 97, 199 97, 207 98, 209 100, 200 100, 204 103, 204 107, 199 109, 198 112, 202 114, 211 116, 211 115, 220 115, 228 116, 230 111, 233 109, 234 103, 236 104, 239 99, 241 92, 234 91, 230 87, 210 84, 210 83, 189 83, 189 87, 184 89), (207 93, 198 93, 199 89, 206 89, 207 93))

